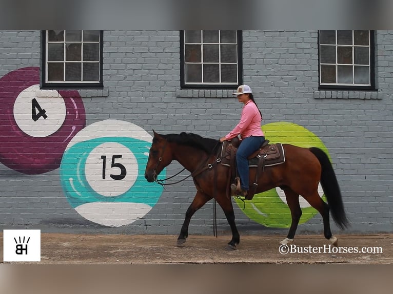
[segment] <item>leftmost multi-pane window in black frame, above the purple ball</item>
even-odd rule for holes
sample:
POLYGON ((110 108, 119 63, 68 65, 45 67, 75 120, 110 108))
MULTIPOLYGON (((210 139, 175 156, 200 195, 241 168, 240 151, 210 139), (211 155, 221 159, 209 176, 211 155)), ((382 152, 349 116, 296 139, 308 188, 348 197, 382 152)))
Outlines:
POLYGON ((44 31, 43 87, 102 87, 102 31, 44 31))

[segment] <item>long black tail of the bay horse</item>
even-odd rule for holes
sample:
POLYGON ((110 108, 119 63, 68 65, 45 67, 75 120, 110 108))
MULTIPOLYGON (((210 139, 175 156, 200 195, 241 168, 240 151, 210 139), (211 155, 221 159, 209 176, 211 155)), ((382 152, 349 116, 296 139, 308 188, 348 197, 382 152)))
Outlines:
POLYGON ((312 147, 309 149, 314 154, 322 166, 321 185, 326 195, 327 203, 330 207, 331 216, 336 224, 344 229, 348 226, 348 219, 345 216, 344 205, 341 198, 340 186, 333 166, 326 153, 321 149, 312 147))

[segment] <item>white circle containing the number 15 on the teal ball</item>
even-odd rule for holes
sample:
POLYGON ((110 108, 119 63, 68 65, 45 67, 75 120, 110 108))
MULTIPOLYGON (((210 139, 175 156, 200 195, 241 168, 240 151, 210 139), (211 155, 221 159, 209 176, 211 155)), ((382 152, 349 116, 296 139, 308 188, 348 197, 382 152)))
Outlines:
POLYGON ((126 146, 105 142, 89 153, 85 175, 96 193, 115 197, 133 186, 138 176, 138 164, 134 154, 126 146))

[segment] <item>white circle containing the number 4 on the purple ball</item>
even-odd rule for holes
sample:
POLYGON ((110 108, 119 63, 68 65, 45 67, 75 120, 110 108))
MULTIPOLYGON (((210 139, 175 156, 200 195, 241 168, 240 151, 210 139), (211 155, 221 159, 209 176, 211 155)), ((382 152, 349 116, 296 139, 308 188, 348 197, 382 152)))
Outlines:
POLYGON ((13 114, 19 129, 31 137, 43 138, 62 127, 66 104, 56 90, 40 90, 39 85, 33 85, 16 97, 13 114))

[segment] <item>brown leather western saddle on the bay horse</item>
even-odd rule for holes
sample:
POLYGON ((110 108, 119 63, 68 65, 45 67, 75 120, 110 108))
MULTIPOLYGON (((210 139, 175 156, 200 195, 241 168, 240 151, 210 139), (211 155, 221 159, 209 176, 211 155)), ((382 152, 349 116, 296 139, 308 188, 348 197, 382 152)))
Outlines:
MULTIPOLYGON (((230 183, 238 177, 236 170, 236 152, 241 141, 239 138, 233 138, 230 141, 224 141, 221 149, 221 164, 228 166, 228 187, 230 183)), ((257 168, 256 178, 246 197, 251 200, 258 187, 258 178, 264 172, 266 166, 273 166, 285 162, 284 148, 281 143, 269 144, 269 140, 265 140, 261 147, 248 157, 249 167, 257 168)))

